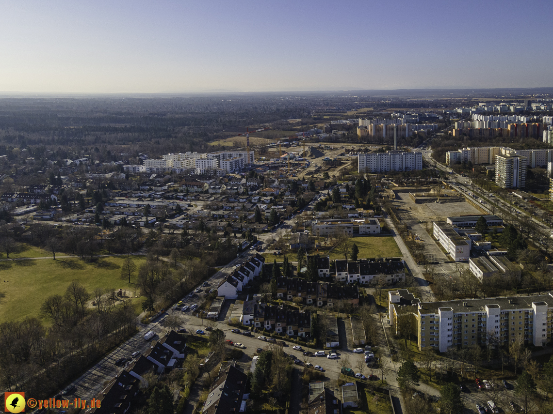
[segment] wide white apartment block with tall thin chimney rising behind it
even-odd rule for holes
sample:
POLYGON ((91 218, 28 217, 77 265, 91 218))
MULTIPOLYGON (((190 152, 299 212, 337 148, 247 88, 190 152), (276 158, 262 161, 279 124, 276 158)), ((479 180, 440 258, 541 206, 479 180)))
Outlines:
POLYGON ((422 169, 422 153, 390 151, 358 156, 358 172, 414 171, 422 169))

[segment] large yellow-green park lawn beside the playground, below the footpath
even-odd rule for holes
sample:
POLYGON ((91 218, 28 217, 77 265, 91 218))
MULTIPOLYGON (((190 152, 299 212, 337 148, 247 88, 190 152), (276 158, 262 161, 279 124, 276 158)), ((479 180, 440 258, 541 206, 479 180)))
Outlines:
MULTIPOLYGON (((77 258, 0 262, 0 322, 39 317, 44 299, 53 294, 63 295, 74 280, 90 294, 96 288, 137 290, 135 285, 119 278, 123 260, 124 257, 102 257, 95 263, 77 258)), ((134 262, 139 267, 144 260, 135 257, 134 262)), ((132 299, 137 314, 142 300, 132 299)))

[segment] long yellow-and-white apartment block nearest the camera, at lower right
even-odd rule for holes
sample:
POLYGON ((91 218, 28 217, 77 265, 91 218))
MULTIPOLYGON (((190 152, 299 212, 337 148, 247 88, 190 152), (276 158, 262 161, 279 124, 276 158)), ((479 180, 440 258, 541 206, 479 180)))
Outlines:
MULTIPOLYGON (((449 347, 485 344, 488 335, 500 344, 517 340, 543 346, 551 342, 553 292, 539 296, 463 299, 440 302, 413 300, 405 290, 389 301, 390 323, 400 316, 411 317, 418 347, 434 347, 446 352, 449 347), (398 302, 408 302, 401 305, 398 302)), ((391 295, 390 295, 391 296, 391 295)))

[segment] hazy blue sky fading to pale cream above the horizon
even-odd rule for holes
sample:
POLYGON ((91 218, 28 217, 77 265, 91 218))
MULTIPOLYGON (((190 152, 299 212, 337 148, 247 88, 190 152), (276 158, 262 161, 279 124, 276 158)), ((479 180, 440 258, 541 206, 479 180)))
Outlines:
POLYGON ((553 1, 2 1, 0 93, 551 87, 553 1))

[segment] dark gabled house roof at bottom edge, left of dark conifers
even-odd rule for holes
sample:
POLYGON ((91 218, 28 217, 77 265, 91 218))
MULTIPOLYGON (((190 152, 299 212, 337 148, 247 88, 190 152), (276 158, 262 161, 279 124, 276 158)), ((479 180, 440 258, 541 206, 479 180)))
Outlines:
POLYGON ((223 371, 207 396, 202 412, 206 414, 238 413, 248 376, 232 365, 223 371))

